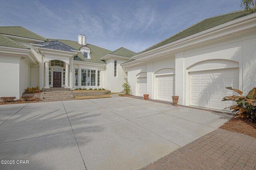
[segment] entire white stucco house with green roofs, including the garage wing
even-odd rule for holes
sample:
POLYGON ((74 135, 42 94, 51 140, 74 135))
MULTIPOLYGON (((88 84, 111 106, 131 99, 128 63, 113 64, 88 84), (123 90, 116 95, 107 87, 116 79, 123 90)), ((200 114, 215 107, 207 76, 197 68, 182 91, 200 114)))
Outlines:
POLYGON ((233 95, 256 87, 256 14, 243 10, 207 18, 139 53, 46 39, 23 27, 0 27, 0 96, 26 87, 101 87, 180 105, 224 109, 233 95))

